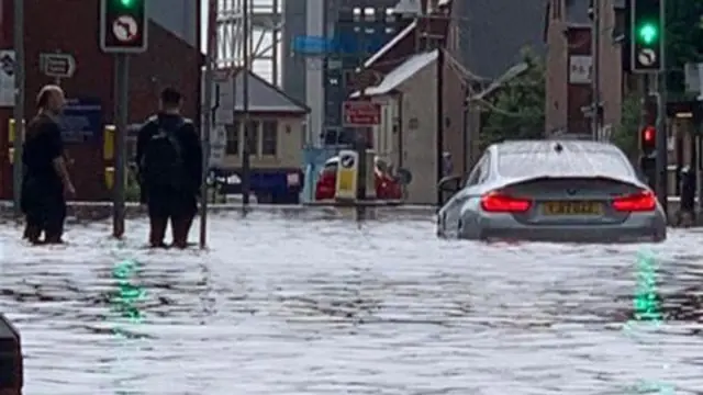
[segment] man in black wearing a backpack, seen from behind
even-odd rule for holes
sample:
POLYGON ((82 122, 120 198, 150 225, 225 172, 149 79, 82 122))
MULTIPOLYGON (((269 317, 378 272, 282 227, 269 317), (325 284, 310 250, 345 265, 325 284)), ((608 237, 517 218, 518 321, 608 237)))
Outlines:
POLYGON ((166 247, 170 221, 174 246, 186 248, 198 211, 202 149, 196 126, 180 114, 180 93, 165 89, 158 114, 146 121, 137 136, 135 161, 142 203, 148 207, 152 247, 166 247))

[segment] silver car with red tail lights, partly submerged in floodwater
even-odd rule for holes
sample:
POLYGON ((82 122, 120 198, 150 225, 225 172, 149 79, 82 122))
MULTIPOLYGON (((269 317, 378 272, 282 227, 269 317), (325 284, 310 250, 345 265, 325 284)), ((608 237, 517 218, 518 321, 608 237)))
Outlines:
POLYGON ((437 234, 464 239, 663 241, 665 212, 614 145, 580 140, 490 146, 447 194, 437 234))

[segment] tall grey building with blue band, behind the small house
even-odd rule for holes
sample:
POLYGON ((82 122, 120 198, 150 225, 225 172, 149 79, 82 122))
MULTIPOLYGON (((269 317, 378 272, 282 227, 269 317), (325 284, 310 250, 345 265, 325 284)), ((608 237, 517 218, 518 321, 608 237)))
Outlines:
POLYGON ((315 104, 321 105, 322 120, 310 131, 309 143, 337 145, 350 140, 354 132, 345 129, 342 122, 342 103, 354 91, 347 77, 402 29, 403 22, 391 13, 397 2, 330 0, 320 10, 312 10, 310 1, 284 3, 283 90, 313 108, 312 116, 315 104), (314 11, 322 12, 324 29, 319 38, 327 44, 324 48, 295 46, 303 42, 301 37, 312 38, 309 19, 314 11), (311 91, 319 84, 310 79, 320 79, 321 98, 311 91))

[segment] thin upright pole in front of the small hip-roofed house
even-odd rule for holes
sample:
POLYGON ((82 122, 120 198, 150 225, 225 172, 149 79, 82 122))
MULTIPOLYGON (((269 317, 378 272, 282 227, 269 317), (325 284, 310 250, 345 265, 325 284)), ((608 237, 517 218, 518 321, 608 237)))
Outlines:
MULTIPOLYGON (((249 26, 249 1, 244 0, 242 7, 243 13, 243 45, 244 45, 244 76, 242 79, 242 112, 244 113, 244 147, 242 149, 242 210, 244 214, 249 206, 249 189, 250 189, 250 177, 252 177, 252 150, 250 145, 252 142, 252 122, 249 120, 249 35, 250 35, 250 26, 249 26)), ((236 95, 235 95, 236 97, 236 95)))

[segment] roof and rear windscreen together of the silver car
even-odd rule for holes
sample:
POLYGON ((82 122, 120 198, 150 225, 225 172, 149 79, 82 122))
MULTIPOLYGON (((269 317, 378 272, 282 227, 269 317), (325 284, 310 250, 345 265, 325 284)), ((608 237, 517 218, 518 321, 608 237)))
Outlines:
POLYGON ((627 157, 610 143, 572 139, 509 140, 489 149, 498 159, 498 172, 504 177, 635 176, 627 157))

